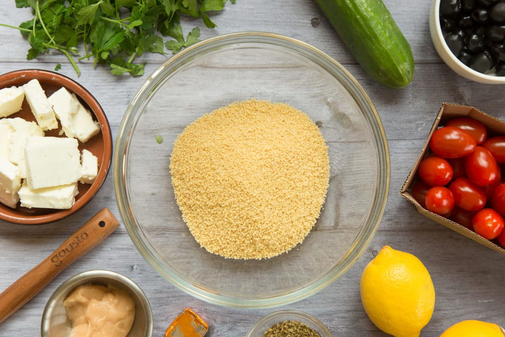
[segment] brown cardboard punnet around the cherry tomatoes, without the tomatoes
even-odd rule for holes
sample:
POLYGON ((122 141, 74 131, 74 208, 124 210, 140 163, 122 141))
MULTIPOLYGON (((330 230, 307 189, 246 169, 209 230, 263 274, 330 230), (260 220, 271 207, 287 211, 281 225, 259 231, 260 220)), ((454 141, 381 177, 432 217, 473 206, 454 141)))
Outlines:
POLYGON ((457 231, 458 233, 465 235, 466 237, 471 238, 472 240, 478 242, 481 245, 486 246, 487 248, 490 248, 496 252, 499 252, 501 254, 505 254, 505 249, 495 245, 494 243, 490 242, 489 240, 483 238, 482 236, 476 234, 475 232, 469 230, 468 228, 457 224, 456 222, 453 222, 449 219, 446 219, 440 215, 437 215, 433 212, 430 212, 426 209, 424 209, 412 196, 410 192, 410 187, 412 184, 417 180, 417 169, 419 167, 419 164, 421 161, 426 157, 426 154, 429 152, 429 146, 430 146, 430 139, 435 132, 435 130, 438 128, 438 126, 443 126, 445 123, 454 118, 458 117, 471 117, 473 119, 478 120, 482 124, 484 124, 488 130, 488 134, 492 135, 505 135, 505 123, 500 121, 499 119, 496 119, 492 116, 489 116, 488 114, 475 109, 473 107, 466 107, 462 105, 457 105, 457 104, 448 104, 448 103, 443 103, 442 107, 440 108, 440 111, 437 114, 437 117, 435 118, 435 122, 433 123, 433 126, 431 127, 430 134, 428 135, 428 139, 426 140, 426 143, 421 151, 421 154, 419 155, 419 158, 416 161, 416 164, 414 165, 414 168, 411 170, 409 173, 409 176, 405 180, 405 183, 403 183, 403 186, 401 187, 400 190, 400 195, 407 200, 409 200, 411 203, 413 203, 417 211, 424 215, 425 217, 434 220, 438 222, 441 225, 444 225, 447 228, 450 228, 454 231, 457 231))

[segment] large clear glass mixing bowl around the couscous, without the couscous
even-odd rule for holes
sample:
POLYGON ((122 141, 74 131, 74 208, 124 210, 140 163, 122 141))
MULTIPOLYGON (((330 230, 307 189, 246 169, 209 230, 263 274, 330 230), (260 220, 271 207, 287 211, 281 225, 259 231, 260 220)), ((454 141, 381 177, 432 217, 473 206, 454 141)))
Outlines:
POLYGON ((133 97, 114 155, 119 211, 148 263, 196 298, 247 308, 306 298, 356 262, 382 217, 389 171, 382 124, 358 82, 313 46, 261 32, 199 42, 158 68, 133 97), (200 248, 182 221, 170 154, 188 124, 250 98, 287 103, 312 118, 328 146, 330 183, 302 244, 271 259, 225 259, 200 248))

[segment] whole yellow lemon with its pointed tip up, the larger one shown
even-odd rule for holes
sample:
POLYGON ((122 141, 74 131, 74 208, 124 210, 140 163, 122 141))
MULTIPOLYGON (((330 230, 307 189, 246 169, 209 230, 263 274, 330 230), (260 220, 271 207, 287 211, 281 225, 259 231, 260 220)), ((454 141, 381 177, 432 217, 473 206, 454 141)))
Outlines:
POLYGON ((435 289, 417 257, 384 246, 363 270, 361 301, 382 331, 418 337, 433 314, 435 289))

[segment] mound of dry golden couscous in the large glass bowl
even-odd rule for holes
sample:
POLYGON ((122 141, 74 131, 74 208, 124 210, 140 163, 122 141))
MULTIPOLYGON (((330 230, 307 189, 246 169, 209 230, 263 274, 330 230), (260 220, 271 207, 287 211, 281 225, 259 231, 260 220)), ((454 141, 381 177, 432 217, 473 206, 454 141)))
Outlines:
POLYGON ((174 142, 170 172, 201 247, 225 258, 271 258, 301 243, 316 223, 328 148, 306 114, 249 100, 188 125, 174 142))

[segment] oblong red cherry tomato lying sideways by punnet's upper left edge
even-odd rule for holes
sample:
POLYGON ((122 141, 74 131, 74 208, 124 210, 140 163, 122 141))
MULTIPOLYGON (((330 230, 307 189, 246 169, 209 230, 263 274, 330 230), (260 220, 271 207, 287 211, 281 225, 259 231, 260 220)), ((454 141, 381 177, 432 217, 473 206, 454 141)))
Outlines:
POLYGON ((468 132, 454 126, 439 128, 430 140, 431 151, 443 158, 468 156, 476 146, 475 139, 468 132))

